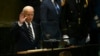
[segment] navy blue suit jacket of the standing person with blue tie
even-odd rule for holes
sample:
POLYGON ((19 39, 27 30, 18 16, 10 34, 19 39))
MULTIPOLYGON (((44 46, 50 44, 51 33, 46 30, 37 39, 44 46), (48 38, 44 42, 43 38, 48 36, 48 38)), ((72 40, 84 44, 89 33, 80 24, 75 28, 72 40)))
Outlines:
MULTIPOLYGON (((59 4, 60 6, 60 4, 59 4)), ((60 13, 60 11, 59 11, 60 13)), ((43 0, 41 3, 40 19, 41 19, 41 31, 42 37, 45 39, 59 39, 59 18, 60 14, 57 14, 56 9, 51 0, 43 0), (49 34, 50 36, 46 36, 49 34)))

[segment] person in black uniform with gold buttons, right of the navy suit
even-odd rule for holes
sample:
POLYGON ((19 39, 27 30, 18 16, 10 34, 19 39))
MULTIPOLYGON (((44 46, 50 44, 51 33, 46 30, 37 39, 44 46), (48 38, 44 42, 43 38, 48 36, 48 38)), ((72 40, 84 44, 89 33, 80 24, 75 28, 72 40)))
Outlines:
POLYGON ((62 8, 62 34, 68 35, 71 45, 83 45, 88 35, 87 0, 67 0, 62 8))

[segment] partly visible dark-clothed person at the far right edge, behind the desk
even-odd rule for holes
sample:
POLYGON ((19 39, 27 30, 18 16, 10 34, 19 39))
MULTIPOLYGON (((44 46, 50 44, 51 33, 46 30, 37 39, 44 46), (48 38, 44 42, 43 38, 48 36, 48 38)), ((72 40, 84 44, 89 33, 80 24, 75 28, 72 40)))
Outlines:
POLYGON ((100 38, 100 0, 91 0, 90 17, 91 17, 91 27, 90 36, 91 44, 99 44, 100 38))

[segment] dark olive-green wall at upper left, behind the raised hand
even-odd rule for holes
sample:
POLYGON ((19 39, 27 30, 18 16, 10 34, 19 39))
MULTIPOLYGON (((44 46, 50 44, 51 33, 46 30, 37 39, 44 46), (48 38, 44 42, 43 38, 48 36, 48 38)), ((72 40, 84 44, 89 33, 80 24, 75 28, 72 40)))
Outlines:
POLYGON ((9 27, 18 19, 20 0, 0 0, 0 27, 9 27))

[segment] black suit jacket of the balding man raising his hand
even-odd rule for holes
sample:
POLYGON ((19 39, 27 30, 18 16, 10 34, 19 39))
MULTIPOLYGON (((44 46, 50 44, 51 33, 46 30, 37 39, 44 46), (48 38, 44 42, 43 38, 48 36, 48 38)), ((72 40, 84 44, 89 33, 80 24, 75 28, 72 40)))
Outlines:
POLYGON ((39 27, 36 23, 32 23, 34 33, 35 33, 35 40, 31 42, 28 34, 28 29, 26 24, 24 23, 21 27, 16 22, 12 27, 12 37, 13 37, 13 48, 14 51, 22 51, 28 49, 34 49, 35 47, 39 47, 39 27))

